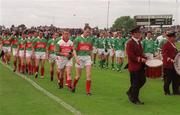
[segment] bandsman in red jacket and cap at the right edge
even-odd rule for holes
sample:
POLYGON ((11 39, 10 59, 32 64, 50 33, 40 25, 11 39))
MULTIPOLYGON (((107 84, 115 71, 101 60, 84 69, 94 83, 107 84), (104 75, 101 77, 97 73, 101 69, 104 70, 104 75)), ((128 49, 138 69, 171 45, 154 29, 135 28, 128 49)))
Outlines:
POLYGON ((164 94, 171 95, 169 86, 172 83, 173 95, 180 95, 178 89, 178 75, 174 68, 174 58, 177 54, 177 48, 175 45, 175 32, 169 32, 167 34, 167 42, 162 47, 163 55, 163 68, 164 68, 164 94))

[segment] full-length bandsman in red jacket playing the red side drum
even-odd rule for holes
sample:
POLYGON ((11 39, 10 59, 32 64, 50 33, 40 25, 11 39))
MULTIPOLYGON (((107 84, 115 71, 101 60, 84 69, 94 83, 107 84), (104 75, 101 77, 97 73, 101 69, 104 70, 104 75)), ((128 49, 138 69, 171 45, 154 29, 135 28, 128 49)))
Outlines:
POLYGON ((144 104, 139 100, 139 91, 145 84, 146 77, 144 63, 146 62, 141 46, 140 27, 131 30, 132 38, 127 42, 126 52, 128 57, 128 70, 130 73, 131 86, 127 91, 130 102, 133 104, 144 104))

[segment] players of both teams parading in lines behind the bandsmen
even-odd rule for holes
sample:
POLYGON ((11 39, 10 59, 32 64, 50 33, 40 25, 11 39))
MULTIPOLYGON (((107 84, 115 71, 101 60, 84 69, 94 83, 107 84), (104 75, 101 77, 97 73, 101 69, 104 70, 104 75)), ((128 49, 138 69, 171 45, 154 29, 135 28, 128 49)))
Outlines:
MULTIPOLYGON (((164 40, 160 39, 159 41, 164 40)), ((72 92, 75 92, 82 68, 85 66, 86 92, 91 95, 91 68, 92 63, 96 64, 96 55, 98 54, 99 67, 108 68, 110 57, 111 68, 121 71, 128 37, 122 37, 121 32, 108 33, 106 31, 102 31, 99 36, 92 36, 91 28, 85 27, 83 34, 76 38, 71 37, 68 30, 64 30, 62 36, 54 33, 50 40, 43 37, 42 31, 25 31, 21 34, 15 31, 8 34, 5 31, 0 41, 0 49, 5 53, 2 57, 3 62, 10 63, 12 51, 14 72, 18 70, 20 73, 35 74, 35 78, 38 78, 40 68, 41 78, 44 78, 44 64, 48 59, 51 81, 54 78, 54 66, 57 65, 59 88, 64 86, 65 75, 67 86, 72 92), (73 57, 76 63, 76 75, 72 83, 73 57), (116 65, 114 65, 114 61, 116 61, 116 65)), ((157 52, 158 44, 152 39, 151 32, 147 32, 146 38, 142 40, 142 46, 145 55, 149 58, 152 58, 157 52)))

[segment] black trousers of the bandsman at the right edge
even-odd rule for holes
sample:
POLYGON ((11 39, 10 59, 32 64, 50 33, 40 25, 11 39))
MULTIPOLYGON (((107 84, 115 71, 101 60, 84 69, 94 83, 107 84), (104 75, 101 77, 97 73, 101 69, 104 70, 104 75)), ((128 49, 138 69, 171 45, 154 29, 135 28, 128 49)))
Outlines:
POLYGON ((170 84, 172 83, 173 94, 179 93, 179 78, 175 69, 164 68, 164 92, 170 94, 170 84))

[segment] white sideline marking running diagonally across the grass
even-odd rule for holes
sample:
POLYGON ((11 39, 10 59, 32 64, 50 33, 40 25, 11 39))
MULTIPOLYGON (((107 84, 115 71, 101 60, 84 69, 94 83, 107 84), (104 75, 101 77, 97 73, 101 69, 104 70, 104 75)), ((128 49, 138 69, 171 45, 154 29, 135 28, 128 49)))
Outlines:
MULTIPOLYGON (((0 63, 4 66, 6 66, 9 70, 12 70, 12 68, 4 63, 2 63, 0 61, 0 63)), ((75 115, 81 115, 81 112, 76 110, 74 107, 72 107, 71 105, 67 104, 66 102, 64 102, 62 99, 58 98, 57 96, 53 95, 52 93, 48 92, 47 90, 45 90, 44 88, 42 88, 41 86, 39 86, 36 82, 34 82, 33 80, 31 80, 30 78, 26 77, 25 75, 22 75, 20 73, 15 72, 15 74, 17 74, 18 76, 24 78, 25 80, 27 80, 32 86, 34 86, 36 89, 38 89, 39 91, 43 92, 45 95, 47 95, 49 98, 51 98, 52 100, 56 101, 57 103, 59 103, 61 106, 63 106, 65 109, 71 111, 73 114, 75 115)))

